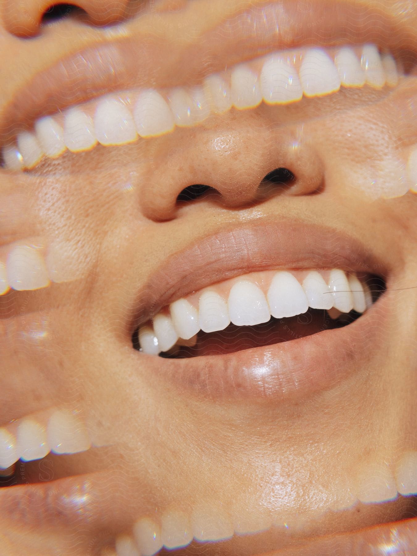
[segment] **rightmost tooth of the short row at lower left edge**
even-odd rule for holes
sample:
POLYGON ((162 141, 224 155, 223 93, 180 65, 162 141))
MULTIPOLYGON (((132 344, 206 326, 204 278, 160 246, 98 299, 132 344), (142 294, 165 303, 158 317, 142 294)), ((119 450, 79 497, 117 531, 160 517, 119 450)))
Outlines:
POLYGON ((57 410, 51 415, 47 439, 55 454, 76 454, 91 448, 86 429, 69 411, 57 410))

